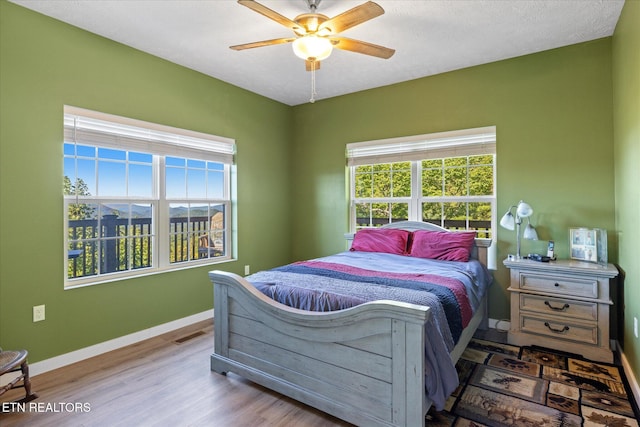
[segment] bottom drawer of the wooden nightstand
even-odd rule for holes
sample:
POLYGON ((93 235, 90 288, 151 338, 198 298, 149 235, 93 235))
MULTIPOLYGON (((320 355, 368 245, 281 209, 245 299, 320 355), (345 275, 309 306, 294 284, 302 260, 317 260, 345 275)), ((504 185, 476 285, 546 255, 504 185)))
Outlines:
POLYGON ((598 325, 596 323, 577 323, 570 319, 553 319, 522 314, 520 328, 523 332, 545 335, 563 340, 586 344, 598 343, 598 325))

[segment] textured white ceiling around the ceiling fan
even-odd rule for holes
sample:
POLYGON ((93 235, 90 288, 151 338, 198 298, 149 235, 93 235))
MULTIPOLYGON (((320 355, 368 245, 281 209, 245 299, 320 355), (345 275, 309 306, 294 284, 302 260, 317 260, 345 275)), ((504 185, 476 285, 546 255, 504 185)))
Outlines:
MULTIPOLYGON (((10 0, 288 105, 311 73, 290 45, 229 46, 292 32, 235 0, 10 0)), ((335 16, 364 0, 322 0, 335 16)), ((316 99, 357 92, 613 34, 624 0, 379 0, 385 14, 342 33, 396 50, 384 60, 334 49, 316 99)), ((306 0, 260 0, 293 19, 306 0)))

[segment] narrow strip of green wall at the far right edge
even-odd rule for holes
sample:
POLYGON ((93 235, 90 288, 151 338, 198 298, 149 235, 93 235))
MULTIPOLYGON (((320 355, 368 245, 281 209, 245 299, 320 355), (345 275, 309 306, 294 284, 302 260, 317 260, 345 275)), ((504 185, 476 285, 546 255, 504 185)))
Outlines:
POLYGON ((640 1, 627 0, 613 35, 613 134, 616 165, 616 229, 624 270, 624 353, 640 373, 640 1))

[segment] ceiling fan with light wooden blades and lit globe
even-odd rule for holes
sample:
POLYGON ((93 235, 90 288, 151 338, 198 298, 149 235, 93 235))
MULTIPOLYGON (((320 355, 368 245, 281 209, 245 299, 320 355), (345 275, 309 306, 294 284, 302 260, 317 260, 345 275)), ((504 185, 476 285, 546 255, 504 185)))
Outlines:
POLYGON ((254 0, 238 0, 238 3, 241 5, 293 30, 295 35, 292 37, 240 44, 230 46, 230 48, 234 50, 244 50, 292 43, 294 53, 305 60, 307 71, 318 70, 320 68, 320 61, 326 59, 334 47, 384 59, 390 58, 395 53, 394 49, 338 35, 349 28, 382 15, 384 9, 377 3, 367 1, 360 6, 349 9, 333 18, 329 18, 321 13, 316 13, 321 0, 306 1, 309 4, 310 13, 303 13, 291 20, 254 0))

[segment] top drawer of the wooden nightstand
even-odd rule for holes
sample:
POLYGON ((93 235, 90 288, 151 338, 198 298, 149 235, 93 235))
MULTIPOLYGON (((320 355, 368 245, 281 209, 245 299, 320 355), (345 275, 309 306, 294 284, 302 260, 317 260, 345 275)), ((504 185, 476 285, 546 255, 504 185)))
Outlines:
POLYGON ((551 292, 559 295, 598 298, 598 281, 595 278, 521 273, 520 289, 545 293, 551 292))

